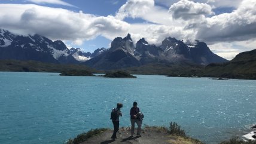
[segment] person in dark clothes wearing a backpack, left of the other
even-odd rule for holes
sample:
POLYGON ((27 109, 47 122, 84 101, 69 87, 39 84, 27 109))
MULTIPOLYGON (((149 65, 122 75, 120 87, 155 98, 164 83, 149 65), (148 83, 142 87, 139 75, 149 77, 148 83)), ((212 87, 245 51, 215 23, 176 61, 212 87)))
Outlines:
POLYGON ((117 139, 117 131, 119 130, 119 117, 122 117, 122 113, 120 111, 120 109, 123 107, 122 103, 117 103, 117 108, 113 108, 111 111, 111 120, 113 122, 114 125, 114 131, 113 134, 111 136, 111 139, 115 140, 117 139))

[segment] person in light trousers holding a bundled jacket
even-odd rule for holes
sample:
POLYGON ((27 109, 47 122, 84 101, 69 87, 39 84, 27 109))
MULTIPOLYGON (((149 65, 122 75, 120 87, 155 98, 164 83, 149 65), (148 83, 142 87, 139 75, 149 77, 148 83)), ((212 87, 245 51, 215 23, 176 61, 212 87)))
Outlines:
POLYGON ((133 107, 130 109, 130 122, 132 124, 132 128, 131 128, 131 137, 133 137, 134 134, 134 127, 135 127, 135 122, 138 125, 137 128, 137 136, 141 136, 141 120, 138 119, 137 114, 139 114, 139 108, 138 108, 138 103, 137 102, 133 102, 133 107))

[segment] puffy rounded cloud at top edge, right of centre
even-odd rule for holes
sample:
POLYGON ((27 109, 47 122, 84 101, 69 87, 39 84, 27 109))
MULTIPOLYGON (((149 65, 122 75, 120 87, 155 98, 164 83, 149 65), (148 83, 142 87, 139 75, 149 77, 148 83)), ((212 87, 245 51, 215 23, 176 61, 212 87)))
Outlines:
POLYGON ((174 19, 184 20, 199 19, 214 14, 210 5, 188 0, 181 0, 170 6, 169 13, 174 19))

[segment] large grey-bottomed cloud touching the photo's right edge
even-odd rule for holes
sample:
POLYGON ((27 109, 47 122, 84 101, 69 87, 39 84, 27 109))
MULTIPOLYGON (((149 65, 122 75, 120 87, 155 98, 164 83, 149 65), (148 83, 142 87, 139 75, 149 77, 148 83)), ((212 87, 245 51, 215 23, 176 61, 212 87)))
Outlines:
POLYGON ((206 42, 244 41, 256 37, 256 1, 244 0, 237 10, 209 17, 196 26, 196 38, 206 42))

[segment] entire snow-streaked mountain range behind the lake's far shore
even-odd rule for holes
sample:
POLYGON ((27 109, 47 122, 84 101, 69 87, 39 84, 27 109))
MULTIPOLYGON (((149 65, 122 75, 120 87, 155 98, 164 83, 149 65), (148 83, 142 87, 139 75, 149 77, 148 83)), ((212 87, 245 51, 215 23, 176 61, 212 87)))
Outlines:
POLYGON ((110 48, 85 53, 80 48, 68 49, 62 41, 51 41, 41 35, 16 35, 0 29, 0 59, 35 60, 47 63, 71 63, 100 70, 129 68, 153 63, 208 65, 228 62, 212 53, 205 42, 185 43, 165 38, 161 45, 148 44, 144 38, 134 42, 128 34, 117 37, 110 48))

